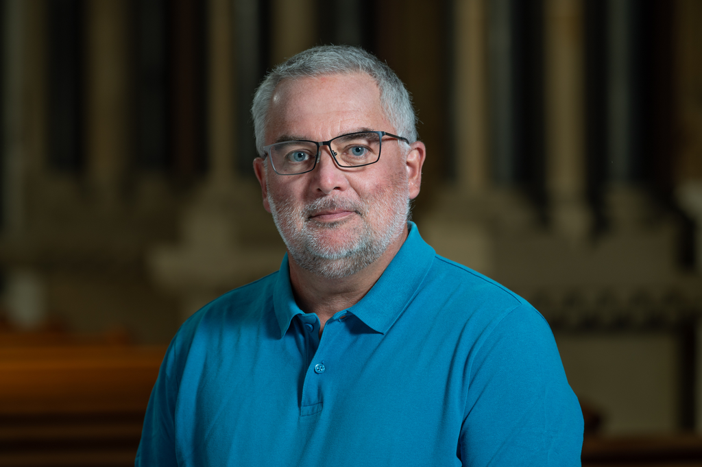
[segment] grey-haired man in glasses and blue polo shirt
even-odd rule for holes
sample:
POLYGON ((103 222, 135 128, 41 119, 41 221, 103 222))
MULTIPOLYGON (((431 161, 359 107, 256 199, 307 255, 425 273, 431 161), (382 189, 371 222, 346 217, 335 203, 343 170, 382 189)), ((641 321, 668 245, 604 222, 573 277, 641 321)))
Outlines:
POLYGON ((266 77, 252 113, 287 254, 183 324, 136 465, 580 465, 548 324, 408 222, 425 147, 395 73, 312 48, 266 77))

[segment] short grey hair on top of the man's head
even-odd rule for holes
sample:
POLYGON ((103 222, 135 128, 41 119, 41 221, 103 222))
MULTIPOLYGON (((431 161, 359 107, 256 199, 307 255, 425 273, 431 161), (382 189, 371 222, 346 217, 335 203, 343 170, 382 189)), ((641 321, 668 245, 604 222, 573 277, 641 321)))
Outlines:
POLYGON ((387 63, 359 47, 317 46, 300 52, 268 73, 256 89, 251 105, 256 149, 263 155, 265 129, 270 121, 268 111, 276 86, 284 79, 320 77, 329 74, 366 73, 376 80, 380 89, 380 104, 385 117, 395 126, 399 136, 410 143, 417 140, 412 100, 397 74, 387 63))

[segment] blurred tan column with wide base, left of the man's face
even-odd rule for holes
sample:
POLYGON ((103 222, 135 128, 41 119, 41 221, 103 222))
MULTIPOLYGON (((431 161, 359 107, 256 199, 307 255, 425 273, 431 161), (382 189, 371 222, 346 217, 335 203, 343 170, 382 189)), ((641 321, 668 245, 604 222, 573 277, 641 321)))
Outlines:
POLYGON ((234 176, 234 15, 230 0, 208 2, 208 147, 211 166, 183 211, 180 244, 161 245, 148 259, 154 279, 181 298, 185 320, 242 277, 274 270, 279 253, 242 251, 237 212, 241 179, 234 176))

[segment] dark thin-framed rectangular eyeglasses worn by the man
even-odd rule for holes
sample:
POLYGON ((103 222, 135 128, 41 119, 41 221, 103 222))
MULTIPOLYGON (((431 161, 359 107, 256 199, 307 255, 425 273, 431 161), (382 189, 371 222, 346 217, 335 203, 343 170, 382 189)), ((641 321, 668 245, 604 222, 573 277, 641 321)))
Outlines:
POLYGON ((409 143, 402 136, 392 135, 387 131, 359 131, 337 136, 329 141, 284 141, 263 147, 265 156, 275 173, 279 175, 298 175, 314 170, 319 162, 322 146, 329 146, 331 157, 340 167, 362 167, 375 164, 380 159, 383 136, 390 136, 409 143))

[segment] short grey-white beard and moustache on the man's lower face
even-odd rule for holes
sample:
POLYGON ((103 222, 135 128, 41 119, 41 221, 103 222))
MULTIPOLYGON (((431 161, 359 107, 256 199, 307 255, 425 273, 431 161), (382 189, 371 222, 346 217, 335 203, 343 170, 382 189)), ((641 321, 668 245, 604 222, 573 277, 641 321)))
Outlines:
POLYGON ((277 203, 270 196, 270 191, 268 193, 273 221, 293 261, 300 268, 327 279, 354 275, 377 261, 390 244, 402 235, 409 216, 409 190, 406 185, 404 190, 397 185, 392 187, 392 197, 373 202, 373 209, 382 213, 383 218, 389 218, 389 222, 380 225, 378 230, 373 229, 366 221, 366 213, 371 206, 369 202, 319 198, 302 209, 295 209, 289 199, 277 203), (324 246, 321 237, 325 231, 338 228, 344 221, 317 223, 310 219, 310 216, 320 209, 339 208, 355 211, 364 222, 349 236, 354 239, 350 244, 337 248, 324 246), (298 228, 296 222, 300 223, 302 228, 298 228))

